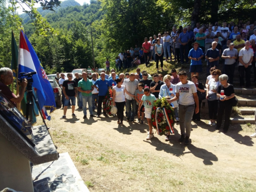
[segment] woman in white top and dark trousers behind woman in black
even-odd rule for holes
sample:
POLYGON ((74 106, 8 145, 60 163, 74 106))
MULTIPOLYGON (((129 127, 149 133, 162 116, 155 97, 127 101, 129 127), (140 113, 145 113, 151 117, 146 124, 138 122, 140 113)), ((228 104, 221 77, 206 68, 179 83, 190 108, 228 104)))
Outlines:
POLYGON ((208 82, 208 88, 206 93, 206 98, 208 102, 208 109, 209 109, 209 118, 210 121, 208 125, 216 125, 216 119, 217 119, 217 112, 218 112, 218 98, 217 98, 217 90, 219 86, 221 85, 219 81, 219 76, 221 75, 221 71, 216 69, 212 71, 212 77, 208 82))

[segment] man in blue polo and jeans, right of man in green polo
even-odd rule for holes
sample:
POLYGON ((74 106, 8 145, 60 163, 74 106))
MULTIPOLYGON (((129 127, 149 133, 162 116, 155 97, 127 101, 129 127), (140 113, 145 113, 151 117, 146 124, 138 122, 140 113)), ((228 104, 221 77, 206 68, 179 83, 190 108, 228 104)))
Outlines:
MULTIPOLYGON (((99 92, 99 99, 98 99, 99 103, 97 106, 97 116, 96 116, 96 117, 99 117, 101 113, 102 101, 105 95, 108 93, 108 90, 110 89, 110 81, 108 79, 105 79, 104 72, 100 73, 100 79, 95 81, 94 89, 97 89, 97 91, 99 92), (96 86, 98 86, 99 88, 97 88, 96 86)), ((104 111, 103 111, 103 115, 106 115, 104 111)))

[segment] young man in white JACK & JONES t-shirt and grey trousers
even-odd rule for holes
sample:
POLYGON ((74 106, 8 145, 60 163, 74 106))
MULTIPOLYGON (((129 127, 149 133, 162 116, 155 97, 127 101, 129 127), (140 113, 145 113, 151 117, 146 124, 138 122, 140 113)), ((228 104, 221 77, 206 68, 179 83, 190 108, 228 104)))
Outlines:
POLYGON ((187 74, 185 71, 179 72, 179 78, 180 82, 176 84, 176 96, 167 101, 168 103, 172 103, 179 99, 178 113, 181 131, 181 138, 179 139, 179 142, 183 142, 185 140, 185 144, 188 145, 191 132, 191 119, 194 111, 196 114, 199 113, 199 100, 195 83, 187 80, 187 74))

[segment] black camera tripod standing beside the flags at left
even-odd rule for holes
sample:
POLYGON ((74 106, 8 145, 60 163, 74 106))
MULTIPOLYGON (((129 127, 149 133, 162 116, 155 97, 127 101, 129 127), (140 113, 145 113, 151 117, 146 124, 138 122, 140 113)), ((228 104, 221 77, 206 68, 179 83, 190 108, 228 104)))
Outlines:
MULTIPOLYGON (((33 81, 33 79, 30 79, 30 81, 33 81)), ((37 98, 35 97, 34 93, 33 93, 33 90, 32 90, 32 82, 28 82, 27 84, 27 103, 26 103, 26 119, 28 119, 28 121, 30 123, 32 123, 33 121, 33 107, 34 107, 34 101, 35 101, 35 104, 37 106, 37 109, 41 115, 41 118, 42 118, 42 122, 44 122, 46 128, 49 130, 49 128, 47 127, 46 125, 46 121, 44 119, 44 116, 42 116, 42 112, 40 110, 40 106, 39 106, 39 103, 38 103, 38 100, 37 98)))

